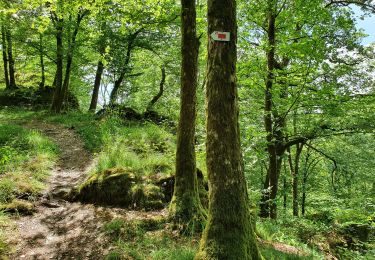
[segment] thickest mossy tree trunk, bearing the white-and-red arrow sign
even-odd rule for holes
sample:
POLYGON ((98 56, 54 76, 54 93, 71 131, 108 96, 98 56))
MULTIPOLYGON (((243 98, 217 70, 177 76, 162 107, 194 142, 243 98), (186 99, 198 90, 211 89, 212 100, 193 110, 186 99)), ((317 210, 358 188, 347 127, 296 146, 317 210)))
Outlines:
POLYGON ((261 259, 252 226, 240 147, 236 86, 236 3, 208 1, 207 142, 209 212, 196 259, 261 259))

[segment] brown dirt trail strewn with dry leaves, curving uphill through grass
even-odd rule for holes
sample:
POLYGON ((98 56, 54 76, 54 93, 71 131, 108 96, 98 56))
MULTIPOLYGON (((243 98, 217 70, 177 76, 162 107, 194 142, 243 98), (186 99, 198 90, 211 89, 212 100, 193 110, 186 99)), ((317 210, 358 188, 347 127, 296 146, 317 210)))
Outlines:
POLYGON ((83 142, 72 129, 31 121, 26 128, 37 129, 60 148, 60 158, 48 180, 44 195, 36 202, 36 212, 15 219, 10 259, 103 259, 111 250, 104 223, 116 217, 144 219, 160 212, 139 212, 98 207, 63 199, 93 163, 83 142))

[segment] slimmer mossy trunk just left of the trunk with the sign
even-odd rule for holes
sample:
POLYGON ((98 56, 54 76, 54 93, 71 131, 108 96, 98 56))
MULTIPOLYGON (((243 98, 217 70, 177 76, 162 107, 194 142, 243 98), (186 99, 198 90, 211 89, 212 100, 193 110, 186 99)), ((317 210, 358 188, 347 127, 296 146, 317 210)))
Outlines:
POLYGON ((177 130, 175 186, 169 210, 173 222, 191 232, 201 231, 205 220, 199 199, 195 162, 199 40, 196 36, 195 0, 181 0, 181 4, 181 105, 177 130))

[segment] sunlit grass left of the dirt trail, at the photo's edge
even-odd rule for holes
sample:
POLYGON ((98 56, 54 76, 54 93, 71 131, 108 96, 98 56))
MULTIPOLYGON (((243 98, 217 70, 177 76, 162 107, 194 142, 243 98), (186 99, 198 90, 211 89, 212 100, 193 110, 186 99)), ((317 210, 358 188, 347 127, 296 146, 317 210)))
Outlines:
POLYGON ((9 248, 5 212, 30 214, 56 160, 56 145, 36 130, 0 121, 0 255, 9 248))

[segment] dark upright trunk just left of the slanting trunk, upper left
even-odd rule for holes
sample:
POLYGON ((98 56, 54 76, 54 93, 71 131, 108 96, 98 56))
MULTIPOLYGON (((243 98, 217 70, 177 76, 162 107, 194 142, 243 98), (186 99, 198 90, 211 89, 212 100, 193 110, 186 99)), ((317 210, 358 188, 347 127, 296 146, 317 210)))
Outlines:
POLYGON ((63 24, 62 20, 56 21, 56 74, 55 91, 52 100, 51 110, 60 113, 63 104, 63 24))

